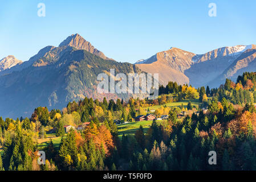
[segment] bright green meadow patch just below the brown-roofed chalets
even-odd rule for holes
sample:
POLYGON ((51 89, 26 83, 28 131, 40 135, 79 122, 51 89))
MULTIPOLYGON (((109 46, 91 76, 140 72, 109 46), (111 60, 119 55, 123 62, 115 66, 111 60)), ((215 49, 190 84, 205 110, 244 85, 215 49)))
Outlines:
MULTIPOLYGON (((139 129, 140 125, 143 126, 144 132, 147 132, 149 127, 151 126, 153 121, 139 121, 139 122, 131 122, 117 126, 118 129, 118 137, 122 137, 125 135, 134 135, 136 130, 139 129)), ((157 123, 161 121, 156 121, 157 123)))

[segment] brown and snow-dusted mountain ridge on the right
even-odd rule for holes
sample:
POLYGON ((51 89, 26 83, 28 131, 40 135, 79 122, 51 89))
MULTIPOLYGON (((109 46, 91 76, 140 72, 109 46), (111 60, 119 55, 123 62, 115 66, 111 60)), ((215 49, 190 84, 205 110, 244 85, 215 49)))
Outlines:
MULTIPOLYGON (((240 56, 246 55, 247 51, 254 48, 254 45, 222 47, 202 55, 170 48, 168 51, 156 53, 149 59, 137 61, 135 65, 142 71, 159 73, 160 84, 163 85, 171 80, 196 87, 218 86, 222 84, 224 77, 230 78, 230 75, 224 73, 226 69, 232 69, 232 65, 240 56)), ((241 64, 241 61, 237 64, 241 64)), ((256 67, 243 67, 243 71, 251 69, 256 71, 256 67)))

